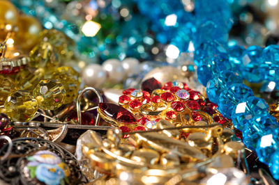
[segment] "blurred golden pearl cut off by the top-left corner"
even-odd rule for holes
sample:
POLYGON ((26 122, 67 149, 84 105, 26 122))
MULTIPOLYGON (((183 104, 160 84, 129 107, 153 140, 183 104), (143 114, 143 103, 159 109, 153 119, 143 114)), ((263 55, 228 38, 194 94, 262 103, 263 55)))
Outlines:
POLYGON ((17 9, 10 1, 0 0, 0 24, 17 24, 17 9))

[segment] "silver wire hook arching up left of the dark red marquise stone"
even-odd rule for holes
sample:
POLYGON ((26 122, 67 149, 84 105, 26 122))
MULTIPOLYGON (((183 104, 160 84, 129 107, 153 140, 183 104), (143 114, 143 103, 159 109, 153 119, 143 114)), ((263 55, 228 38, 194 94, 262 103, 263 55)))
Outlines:
MULTIPOLYGON (((91 88, 91 87, 84 88, 84 90, 82 90, 82 92, 80 92, 80 94, 77 97, 77 122, 79 124, 82 123, 82 111, 80 111, 80 100, 82 99, 82 96, 84 95, 84 93, 86 91, 89 91, 89 90, 93 91, 94 93, 96 93, 96 95, 98 97, 98 100, 99 100, 99 103, 103 103, 103 97, 102 97, 102 95, 100 95, 99 91, 96 90, 96 88, 91 88)), ((97 114, 95 126, 98 125, 98 122, 100 122, 100 115, 99 115, 99 113, 97 114)))

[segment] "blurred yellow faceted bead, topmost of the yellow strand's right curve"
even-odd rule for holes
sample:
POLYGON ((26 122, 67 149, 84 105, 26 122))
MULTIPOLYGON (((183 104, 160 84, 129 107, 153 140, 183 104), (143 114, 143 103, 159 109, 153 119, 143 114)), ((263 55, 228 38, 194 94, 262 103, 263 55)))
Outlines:
POLYGON ((41 40, 50 42, 52 46, 59 52, 61 61, 68 61, 73 57, 73 49, 70 49, 75 42, 68 38, 68 36, 55 29, 45 29, 40 33, 41 40))

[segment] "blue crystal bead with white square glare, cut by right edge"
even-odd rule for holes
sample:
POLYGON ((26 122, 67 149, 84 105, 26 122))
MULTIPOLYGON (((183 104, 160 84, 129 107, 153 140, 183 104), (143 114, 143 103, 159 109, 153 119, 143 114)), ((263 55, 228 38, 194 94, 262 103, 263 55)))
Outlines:
POLYGON ((275 152, 275 150, 278 150, 279 138, 276 133, 278 133, 278 131, 269 129, 268 131, 266 131, 266 134, 264 134, 264 136, 259 138, 259 140, 257 141, 256 152, 257 156, 259 157, 259 161, 261 161, 262 163, 269 164, 271 155, 273 154, 273 152, 275 152))

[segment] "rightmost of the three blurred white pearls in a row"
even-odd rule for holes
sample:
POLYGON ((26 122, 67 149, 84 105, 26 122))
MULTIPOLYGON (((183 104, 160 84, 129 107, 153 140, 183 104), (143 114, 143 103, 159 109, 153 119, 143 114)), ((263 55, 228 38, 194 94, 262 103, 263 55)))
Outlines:
POLYGON ((140 73, 140 62, 136 58, 125 58, 122 61, 122 67, 126 72, 127 77, 131 77, 140 73))

